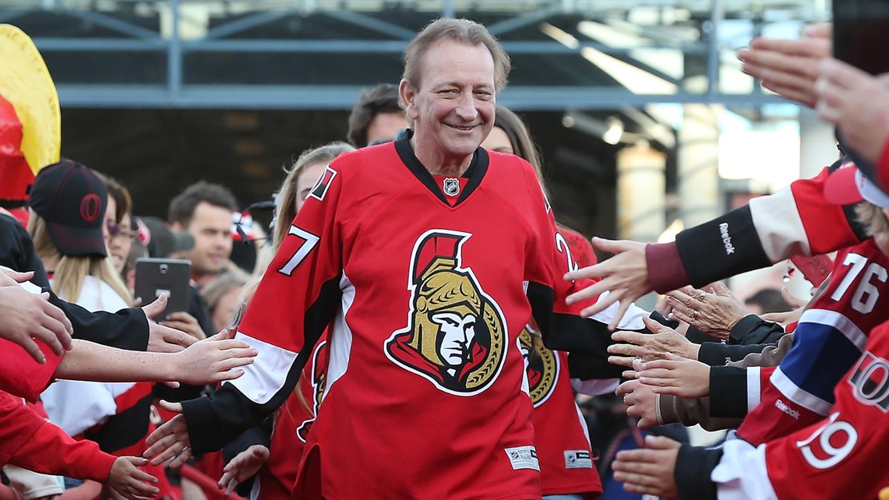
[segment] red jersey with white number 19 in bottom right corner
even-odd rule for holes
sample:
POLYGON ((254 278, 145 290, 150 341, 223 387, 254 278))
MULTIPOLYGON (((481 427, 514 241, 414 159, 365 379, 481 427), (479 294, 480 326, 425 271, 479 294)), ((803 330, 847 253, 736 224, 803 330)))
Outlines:
POLYGON ((834 392, 827 418, 753 448, 726 441, 710 475, 720 500, 877 498, 889 485, 889 323, 870 334, 865 352, 834 392))

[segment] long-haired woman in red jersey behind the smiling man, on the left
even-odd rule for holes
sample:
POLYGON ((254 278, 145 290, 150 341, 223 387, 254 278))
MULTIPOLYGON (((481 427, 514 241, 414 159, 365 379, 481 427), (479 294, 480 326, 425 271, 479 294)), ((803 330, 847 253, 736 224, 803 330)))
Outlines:
MULTIPOLYGON (((289 168, 284 168, 287 176, 276 196, 274 248, 276 254, 290 225, 302 207, 324 169, 332 160, 355 148, 345 142, 331 142, 315 149, 307 149, 300 154, 289 168)), ((260 278, 244 286, 241 309, 246 310, 260 278)), ((229 491, 245 480, 256 476, 250 497, 262 500, 289 500, 300 465, 303 444, 324 394, 326 362, 326 332, 315 345, 311 359, 300 375, 300 383, 295 391, 276 411, 271 422, 271 436, 268 427, 253 428, 225 448, 226 456, 234 456, 228 461, 220 478, 220 488, 229 491), (256 439, 259 437, 259 439, 256 439)), ((246 492, 242 492, 246 493, 246 492)))

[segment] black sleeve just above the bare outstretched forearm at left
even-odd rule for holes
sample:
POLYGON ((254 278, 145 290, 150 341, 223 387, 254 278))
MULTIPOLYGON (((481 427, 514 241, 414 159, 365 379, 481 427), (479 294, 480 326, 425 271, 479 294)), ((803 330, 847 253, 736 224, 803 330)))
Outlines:
POLYGON ((77 304, 61 300, 51 290, 50 303, 58 307, 71 320, 74 338, 125 349, 148 349, 148 319, 138 307, 118 310, 115 313, 97 310, 90 312, 77 304))

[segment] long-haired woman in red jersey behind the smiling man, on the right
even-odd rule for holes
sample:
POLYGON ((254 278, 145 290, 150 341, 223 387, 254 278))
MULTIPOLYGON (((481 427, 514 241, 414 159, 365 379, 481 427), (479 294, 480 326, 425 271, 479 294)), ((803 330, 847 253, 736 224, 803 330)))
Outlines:
MULTIPOLYGON (((482 142, 482 147, 525 158, 534 167, 541 188, 549 197, 541 158, 531 134, 522 119, 511 110, 497 106, 493 130, 482 142)), ((571 255, 568 258, 574 261, 569 265, 596 263, 596 254, 587 238, 561 225, 559 234, 565 238, 564 245, 571 255)), ((602 493, 602 484, 593 464, 586 423, 574 402, 568 354, 547 349, 539 331, 533 325, 525 327, 519 343, 525 354, 525 369, 534 405, 534 447, 541 465, 543 498, 594 498, 602 493)))

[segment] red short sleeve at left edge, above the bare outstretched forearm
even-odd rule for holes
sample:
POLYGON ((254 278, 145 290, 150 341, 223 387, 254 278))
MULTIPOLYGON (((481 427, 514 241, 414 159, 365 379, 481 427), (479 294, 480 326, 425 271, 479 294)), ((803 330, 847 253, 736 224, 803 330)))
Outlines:
POLYGON ((0 339, 0 391, 34 402, 52 382, 52 374, 61 358, 45 343, 36 343, 46 358, 42 365, 19 344, 0 339))

